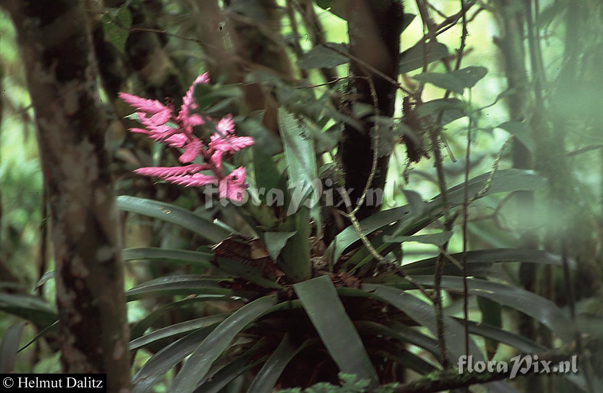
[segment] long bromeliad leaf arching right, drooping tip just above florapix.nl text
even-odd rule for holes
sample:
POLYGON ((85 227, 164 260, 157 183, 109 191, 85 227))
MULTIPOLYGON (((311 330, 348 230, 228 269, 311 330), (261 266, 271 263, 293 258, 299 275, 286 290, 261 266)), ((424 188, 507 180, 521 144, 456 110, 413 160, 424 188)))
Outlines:
MULTIPOLYGON (((434 278, 431 276, 415 275, 413 278, 419 284, 434 285, 434 278)), ((566 342, 573 339, 575 331, 573 322, 549 299, 519 287, 475 278, 469 278, 467 286, 470 295, 483 296, 531 316, 566 342)), ((446 290, 463 293, 463 278, 443 276, 442 287, 446 290)))

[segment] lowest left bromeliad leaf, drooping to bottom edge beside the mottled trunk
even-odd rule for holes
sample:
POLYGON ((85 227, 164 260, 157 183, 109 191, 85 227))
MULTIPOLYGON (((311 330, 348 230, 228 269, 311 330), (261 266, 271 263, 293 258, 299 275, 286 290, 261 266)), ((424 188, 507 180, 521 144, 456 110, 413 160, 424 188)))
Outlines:
POLYGON ((134 375, 132 380, 132 393, 147 393, 159 382, 163 375, 185 357, 189 356, 207 336, 213 331, 213 327, 194 331, 188 336, 172 342, 153 356, 134 375))

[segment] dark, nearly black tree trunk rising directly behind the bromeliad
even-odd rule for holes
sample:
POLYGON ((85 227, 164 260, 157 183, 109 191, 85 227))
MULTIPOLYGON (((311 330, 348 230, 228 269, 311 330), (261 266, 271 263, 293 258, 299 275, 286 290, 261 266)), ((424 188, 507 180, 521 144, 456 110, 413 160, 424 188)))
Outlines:
MULTIPOLYGON (((400 33, 402 33, 403 10, 397 0, 350 0, 346 2, 348 31, 350 36, 350 53, 356 58, 368 63, 373 68, 397 79, 398 57, 400 53, 400 33)), ((368 76, 374 80, 374 88, 379 103, 380 115, 391 117, 394 114, 397 86, 391 81, 374 74, 362 63, 350 62, 352 76, 368 76)), ((373 105, 370 85, 367 80, 355 78, 350 81, 352 90, 359 95, 359 101, 373 105)), ((370 129, 373 124, 369 121, 364 130, 356 130, 346 125, 339 144, 339 157, 343 164, 346 188, 353 188, 350 193, 352 203, 356 203, 368 181, 373 163, 373 149, 370 129)), ((382 189, 387 176, 389 155, 379 158, 377 171, 372 188, 382 189)), ((359 209, 358 219, 370 216, 378 211, 380 206, 367 206, 359 209)))

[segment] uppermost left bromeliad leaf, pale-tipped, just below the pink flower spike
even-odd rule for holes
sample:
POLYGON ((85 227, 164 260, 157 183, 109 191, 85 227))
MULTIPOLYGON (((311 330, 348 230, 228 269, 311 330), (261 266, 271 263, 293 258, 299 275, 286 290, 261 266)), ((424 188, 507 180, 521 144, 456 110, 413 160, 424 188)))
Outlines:
POLYGON ((122 211, 142 214, 182 226, 212 243, 219 243, 230 236, 230 233, 221 226, 197 216, 194 212, 169 203, 124 195, 117 197, 117 207, 122 211))

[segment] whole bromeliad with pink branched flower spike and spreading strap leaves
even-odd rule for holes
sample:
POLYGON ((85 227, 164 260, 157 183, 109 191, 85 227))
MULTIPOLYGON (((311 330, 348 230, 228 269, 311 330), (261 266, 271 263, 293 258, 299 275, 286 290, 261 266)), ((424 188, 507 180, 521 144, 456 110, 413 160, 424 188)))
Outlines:
MULTIPOLYGON (((195 84, 208 81, 206 75, 201 75, 195 84)), ((138 119, 145 126, 133 131, 183 149, 180 162, 186 164, 175 168, 140 168, 136 172, 188 187, 218 185, 220 197, 242 200, 245 169, 239 167, 224 175, 222 160, 253 144, 253 139, 234 136, 235 124, 230 115, 215 125, 210 141, 195 136, 193 127, 213 124, 209 117, 195 112, 197 107, 192 100, 195 84, 177 115, 172 106, 121 95, 139 111, 138 119)), ((279 117, 286 175, 291 183, 307 184, 318 176, 314 141, 305 129, 305 121, 309 120, 285 109, 280 110, 279 117)), ((250 165, 258 187, 274 184, 274 179, 268 179, 263 171, 280 176, 273 158, 266 159, 261 153, 254 155, 250 165)), ((543 179, 530 171, 499 170, 470 180, 467 193, 483 197, 535 190, 542 185, 543 179)), ((320 226, 317 206, 300 205, 289 210, 294 212, 289 216, 277 214, 276 208, 268 209, 273 214, 268 220, 270 226, 265 225, 265 210, 261 216, 258 209, 243 206, 237 212, 250 223, 254 237, 248 237, 175 205, 119 197, 118 206, 123 211, 180 225, 207 244, 196 251, 124 250, 125 260, 172 260, 206 269, 203 275, 164 276, 127 291, 128 301, 186 296, 133 325, 132 351, 148 346, 157 348, 164 339, 178 338, 153 354, 136 373, 134 392, 152 391, 169 370, 182 362, 170 391, 219 392, 239 375, 247 375, 248 392, 270 393, 275 387, 307 387, 320 381, 337 383, 339 372, 356 375, 364 386, 361 391, 374 391, 370 389, 400 380, 405 369, 427 375, 458 359, 466 353, 463 322, 444 315, 441 321, 444 331, 438 331, 434 306, 429 297, 421 296, 421 292, 431 295, 438 258, 384 266, 384 259, 376 258, 375 252, 397 258, 397 250, 404 241, 446 243, 452 232, 415 234, 437 222, 446 208, 454 211, 463 205, 465 191, 463 184, 447 190, 446 206, 443 197, 438 196, 426 203, 415 201, 412 205, 377 212, 362 220, 359 228, 350 225, 344 229, 330 244, 322 244, 320 238, 311 236, 311 225, 320 226), (365 247, 367 237, 371 237, 373 250, 365 247), (161 313, 208 301, 232 301, 241 307, 147 332, 161 313), (445 341, 435 340, 430 334, 443 336, 445 341), (445 350, 440 348, 443 342, 445 350), (410 351, 409 345, 421 351, 410 351)), ((293 203, 289 193, 286 200, 293 203)), ((320 235, 321 229, 315 232, 320 235)), ((450 262, 444 268, 441 286, 451 293, 463 293, 463 270, 452 263, 461 260, 461 255, 447 258, 450 262)), ((502 330, 501 306, 531 316, 561 340, 572 339, 571 322, 555 304, 489 278, 497 274, 501 263, 560 264, 560 258, 526 249, 485 249, 468 252, 466 261, 466 273, 472 277, 468 280, 468 295, 490 302, 490 317, 481 322, 467 322, 471 334, 467 345, 474 359, 484 359, 473 340, 475 336, 487 340, 488 357, 496 353, 501 342, 522 352, 543 349, 535 342, 502 330)), ((586 386, 575 375, 572 382, 582 389, 586 386)), ((491 388, 508 391, 509 387, 497 382, 491 388)))

